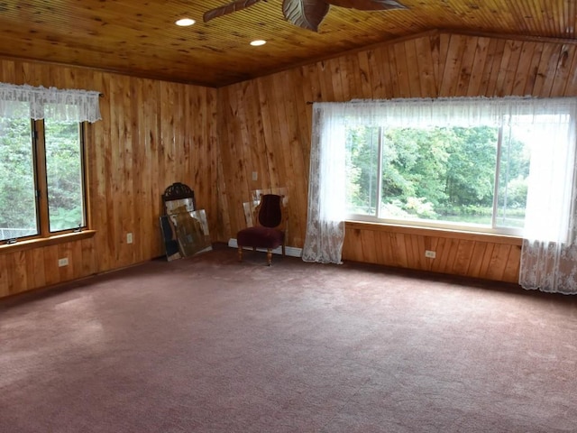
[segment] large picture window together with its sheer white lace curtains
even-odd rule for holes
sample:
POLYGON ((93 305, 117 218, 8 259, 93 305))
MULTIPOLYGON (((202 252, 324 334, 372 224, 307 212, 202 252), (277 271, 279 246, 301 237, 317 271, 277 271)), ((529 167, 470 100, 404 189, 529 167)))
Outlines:
POLYGON ((519 283, 577 293, 577 98, 315 103, 303 260, 346 219, 523 237, 519 283))

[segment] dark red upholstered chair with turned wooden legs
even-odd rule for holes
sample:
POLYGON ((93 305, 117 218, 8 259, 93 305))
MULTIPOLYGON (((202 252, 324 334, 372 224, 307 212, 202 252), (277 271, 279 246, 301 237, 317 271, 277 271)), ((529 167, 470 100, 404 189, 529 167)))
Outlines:
POLYGON ((277 194, 264 194, 261 202, 254 209, 256 225, 243 228, 236 235, 238 245, 238 260, 243 261, 243 247, 252 247, 267 250, 267 264, 272 262, 272 250, 282 247, 282 255, 285 253, 287 238, 288 218, 282 205, 282 196, 277 194))

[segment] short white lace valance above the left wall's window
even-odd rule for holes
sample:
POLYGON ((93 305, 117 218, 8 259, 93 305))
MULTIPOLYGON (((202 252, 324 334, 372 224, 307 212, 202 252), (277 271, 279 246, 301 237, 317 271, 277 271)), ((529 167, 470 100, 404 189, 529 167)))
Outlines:
POLYGON ((69 122, 101 120, 100 94, 91 90, 34 88, 0 83, 0 117, 38 120, 50 118, 69 122))

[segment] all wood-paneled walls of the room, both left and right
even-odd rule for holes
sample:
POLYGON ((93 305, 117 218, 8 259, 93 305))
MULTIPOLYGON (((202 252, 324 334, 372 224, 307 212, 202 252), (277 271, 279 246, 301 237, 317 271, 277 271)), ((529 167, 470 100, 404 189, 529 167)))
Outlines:
MULTIPOLYGON (((160 194, 174 181, 195 189, 213 241, 227 241, 243 228, 242 203, 252 189, 286 187, 288 244, 302 247, 311 135, 307 102, 576 96, 576 54, 575 45, 562 42, 428 32, 219 89, 0 60, 0 81, 104 95, 103 121, 87 128, 88 204, 96 235, 0 253, 0 297, 160 256, 160 194), (128 232, 133 244, 125 243, 128 232), (64 256, 69 266, 59 268, 64 256)), ((516 280, 516 241, 348 228, 344 260, 516 280), (428 244, 441 260, 424 262, 421 250, 428 244), (388 253, 393 249, 410 253, 388 253)))

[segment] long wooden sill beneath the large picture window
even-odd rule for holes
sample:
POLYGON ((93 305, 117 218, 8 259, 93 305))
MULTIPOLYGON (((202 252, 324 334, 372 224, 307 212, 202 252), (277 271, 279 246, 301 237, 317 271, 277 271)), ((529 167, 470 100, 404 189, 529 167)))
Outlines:
POLYGON ((511 235, 495 235, 492 233, 466 232, 462 230, 450 230, 442 228, 401 226, 394 224, 371 223, 365 221, 346 221, 345 228, 349 230, 371 230, 376 232, 402 233, 404 235, 447 237, 463 239, 467 241, 491 242, 493 244, 518 245, 523 244, 523 239, 511 235))

